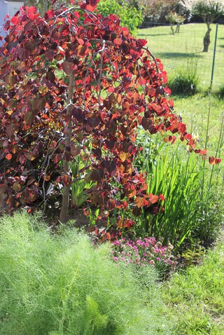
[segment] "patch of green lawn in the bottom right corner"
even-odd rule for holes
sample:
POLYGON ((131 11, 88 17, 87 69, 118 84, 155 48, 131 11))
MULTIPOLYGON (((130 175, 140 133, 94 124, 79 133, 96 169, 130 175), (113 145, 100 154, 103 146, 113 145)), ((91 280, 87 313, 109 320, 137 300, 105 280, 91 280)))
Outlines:
POLYGON ((176 273, 165 283, 163 299, 174 335, 224 334, 224 246, 209 251, 203 264, 176 273))

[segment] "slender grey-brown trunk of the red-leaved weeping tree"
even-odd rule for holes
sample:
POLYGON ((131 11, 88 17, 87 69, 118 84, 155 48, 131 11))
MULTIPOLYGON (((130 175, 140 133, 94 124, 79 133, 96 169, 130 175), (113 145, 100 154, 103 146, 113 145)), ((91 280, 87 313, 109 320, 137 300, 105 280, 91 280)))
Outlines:
MULTIPOLYGON (((74 90, 74 74, 73 71, 71 72, 69 76, 69 94, 67 98, 67 109, 66 109, 66 117, 67 117, 67 129, 64 134, 65 136, 65 150, 66 148, 69 148, 70 142, 71 142, 71 109, 72 109, 72 98, 73 98, 73 90, 74 90)), ((64 174, 69 173, 69 161, 64 158, 63 160, 63 171, 64 174)), ((67 212, 69 208, 69 194, 70 194, 70 185, 65 185, 63 187, 63 193, 62 193, 62 208, 60 211, 59 221, 62 223, 65 223, 67 221, 67 212)))

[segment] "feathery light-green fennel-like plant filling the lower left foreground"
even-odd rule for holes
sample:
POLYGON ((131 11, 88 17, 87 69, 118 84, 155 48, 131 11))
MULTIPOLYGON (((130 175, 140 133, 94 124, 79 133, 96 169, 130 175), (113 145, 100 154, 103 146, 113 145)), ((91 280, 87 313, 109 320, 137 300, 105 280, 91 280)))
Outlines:
POLYGON ((0 220, 0 334, 172 334, 151 266, 116 264, 109 244, 25 212, 0 220))

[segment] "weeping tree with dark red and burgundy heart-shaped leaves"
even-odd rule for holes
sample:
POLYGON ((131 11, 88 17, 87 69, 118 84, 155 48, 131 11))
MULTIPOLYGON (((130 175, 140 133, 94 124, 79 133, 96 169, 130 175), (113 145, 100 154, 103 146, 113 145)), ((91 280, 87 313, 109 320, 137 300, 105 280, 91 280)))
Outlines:
POLYGON ((46 206, 61 193, 59 219, 65 222, 71 184, 83 178, 92 182, 90 201, 102 217, 113 208, 131 206, 138 213, 159 206, 161 199, 146 193, 144 175, 133 167, 138 125, 151 134, 168 132, 170 142, 178 133, 190 150, 206 155, 173 112, 160 60, 115 15, 94 11, 97 2, 60 6, 43 18, 26 6, 6 19, 0 48, 3 210, 46 206), (72 176, 69 163, 77 156, 84 167, 72 176))

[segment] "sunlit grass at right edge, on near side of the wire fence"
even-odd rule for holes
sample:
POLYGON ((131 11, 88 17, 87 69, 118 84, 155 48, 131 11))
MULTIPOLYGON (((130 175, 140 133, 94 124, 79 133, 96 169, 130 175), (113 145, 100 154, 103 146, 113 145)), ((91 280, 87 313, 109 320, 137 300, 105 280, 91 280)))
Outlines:
MULTIPOLYGON (((221 158, 218 165, 205 161, 206 180, 212 179, 212 189, 221 193, 224 190, 224 100, 216 95, 197 94, 192 97, 173 97, 175 112, 186 123, 188 132, 200 142, 198 149, 207 148, 207 156, 221 158)), ((179 141, 177 141, 177 144, 179 141)), ((221 200, 222 202, 223 200, 221 200)))

